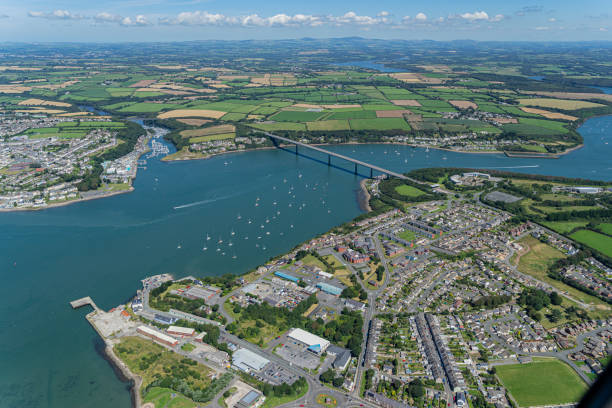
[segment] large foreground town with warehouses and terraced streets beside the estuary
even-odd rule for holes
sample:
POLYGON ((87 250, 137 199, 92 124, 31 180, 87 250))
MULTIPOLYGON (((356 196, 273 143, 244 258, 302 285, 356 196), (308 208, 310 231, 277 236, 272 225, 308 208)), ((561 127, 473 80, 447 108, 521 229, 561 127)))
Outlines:
MULTIPOLYGON (((390 182, 366 188, 380 197, 390 182)), ((168 354, 198 367, 182 393, 213 406, 517 407, 517 373, 542 370, 565 384, 558 405, 575 405, 612 355, 610 269, 564 265, 560 279, 593 295, 561 290, 523 262, 538 245, 576 256, 574 242, 433 187, 434 200, 368 213, 245 275, 151 276, 108 312, 89 299, 87 319, 137 398, 168 386, 146 368, 168 354)))

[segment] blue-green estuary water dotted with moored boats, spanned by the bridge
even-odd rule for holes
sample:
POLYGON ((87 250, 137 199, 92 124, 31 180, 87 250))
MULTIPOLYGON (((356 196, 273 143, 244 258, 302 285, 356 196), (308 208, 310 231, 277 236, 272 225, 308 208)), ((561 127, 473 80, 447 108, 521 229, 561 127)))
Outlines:
MULTIPOLYGON (((329 149, 395 171, 457 166, 612 180, 612 116, 580 132, 585 147, 558 160, 392 145, 329 149)), ((309 155, 149 159, 132 193, 0 213, 0 407, 129 407, 127 384, 97 352, 89 310, 68 302, 89 295, 109 309, 158 273, 241 273, 357 216, 361 176, 309 155)))

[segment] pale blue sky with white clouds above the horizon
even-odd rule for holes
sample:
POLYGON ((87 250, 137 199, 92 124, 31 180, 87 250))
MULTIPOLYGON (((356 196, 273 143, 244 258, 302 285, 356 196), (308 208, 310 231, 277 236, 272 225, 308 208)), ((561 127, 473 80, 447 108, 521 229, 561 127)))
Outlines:
POLYGON ((0 41, 340 36, 408 40, 612 40, 612 1, 0 1, 0 41))

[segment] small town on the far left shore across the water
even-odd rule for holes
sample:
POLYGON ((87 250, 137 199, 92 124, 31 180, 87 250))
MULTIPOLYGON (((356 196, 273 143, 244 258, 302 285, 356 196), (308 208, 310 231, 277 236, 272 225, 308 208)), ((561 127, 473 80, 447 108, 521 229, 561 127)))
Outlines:
POLYGON ((151 137, 161 134, 143 133, 133 150, 100 160, 125 143, 117 139, 124 127, 103 117, 0 114, 0 210, 42 209, 130 191, 140 156, 151 137))

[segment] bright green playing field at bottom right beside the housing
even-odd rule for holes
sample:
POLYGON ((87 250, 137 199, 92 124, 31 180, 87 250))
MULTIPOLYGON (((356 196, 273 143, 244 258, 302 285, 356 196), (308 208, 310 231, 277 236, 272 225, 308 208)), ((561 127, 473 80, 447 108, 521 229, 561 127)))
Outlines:
POLYGON ((500 365, 496 370, 520 407, 577 402, 587 389, 578 374, 554 359, 500 365))

